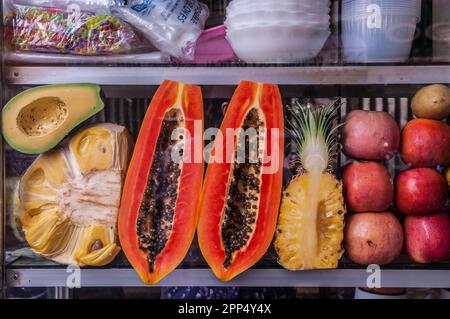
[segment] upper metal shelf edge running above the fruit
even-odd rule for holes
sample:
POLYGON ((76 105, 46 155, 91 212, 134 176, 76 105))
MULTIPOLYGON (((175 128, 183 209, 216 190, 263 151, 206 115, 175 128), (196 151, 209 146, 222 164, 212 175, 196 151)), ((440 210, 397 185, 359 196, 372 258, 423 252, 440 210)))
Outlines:
POLYGON ((280 85, 450 83, 450 65, 374 66, 9 66, 7 84, 94 82, 101 85, 159 85, 165 79, 199 85, 235 85, 241 80, 280 85))

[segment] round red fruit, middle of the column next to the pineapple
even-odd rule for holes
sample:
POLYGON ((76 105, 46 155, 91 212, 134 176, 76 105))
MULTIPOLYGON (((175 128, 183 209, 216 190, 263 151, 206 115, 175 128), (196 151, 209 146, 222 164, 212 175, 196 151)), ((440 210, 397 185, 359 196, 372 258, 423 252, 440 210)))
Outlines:
POLYGON ((353 162, 345 167, 342 181, 347 208, 351 211, 383 211, 392 203, 394 186, 381 163, 353 162))

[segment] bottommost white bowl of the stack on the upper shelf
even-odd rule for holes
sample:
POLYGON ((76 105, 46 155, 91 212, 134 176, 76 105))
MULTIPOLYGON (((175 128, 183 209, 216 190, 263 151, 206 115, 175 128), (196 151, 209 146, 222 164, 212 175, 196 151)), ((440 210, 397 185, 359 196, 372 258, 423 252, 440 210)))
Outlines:
POLYGON ((250 63, 296 63, 315 57, 330 31, 304 26, 255 26, 227 30, 236 55, 250 63))

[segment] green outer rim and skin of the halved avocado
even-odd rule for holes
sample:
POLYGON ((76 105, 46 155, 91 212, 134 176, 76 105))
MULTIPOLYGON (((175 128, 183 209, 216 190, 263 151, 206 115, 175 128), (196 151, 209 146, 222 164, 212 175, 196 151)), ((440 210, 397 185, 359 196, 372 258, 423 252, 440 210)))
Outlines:
MULTIPOLYGON (((14 142, 14 138, 8 136, 8 134, 5 134, 5 132, 2 129, 3 138, 6 140, 6 142, 16 151, 19 151, 24 154, 40 154, 47 152, 54 148, 56 145, 58 145, 61 140, 67 136, 75 127, 77 127, 82 122, 86 121, 88 118, 94 116, 98 112, 100 112, 104 107, 103 100, 100 96, 101 88, 97 84, 93 83, 69 83, 69 84, 51 84, 51 85, 43 85, 43 86, 37 86, 28 90, 23 91, 22 93, 17 94, 15 97, 13 97, 6 105, 3 107, 2 110, 2 117, 4 117, 4 113, 10 109, 11 107, 14 107, 15 101, 18 100, 21 96, 27 95, 27 94, 33 94, 33 92, 42 90, 44 88, 71 88, 71 87, 84 87, 90 90, 94 90, 97 94, 96 103, 92 108, 90 108, 89 112, 87 112, 84 116, 74 119, 72 125, 67 128, 67 130, 61 132, 61 135, 57 138, 49 141, 45 147, 42 148, 33 148, 32 145, 26 146, 26 145, 18 145, 14 142)), ((15 119, 14 119, 15 120, 15 119)))

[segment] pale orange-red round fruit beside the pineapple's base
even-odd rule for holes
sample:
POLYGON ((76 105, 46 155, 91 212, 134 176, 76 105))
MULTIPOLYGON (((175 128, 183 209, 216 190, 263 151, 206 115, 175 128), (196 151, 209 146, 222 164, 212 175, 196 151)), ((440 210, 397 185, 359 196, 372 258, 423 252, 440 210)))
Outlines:
POLYGON ((355 213, 347 219, 344 246, 354 263, 390 264, 402 251, 403 228, 391 212, 355 213))

